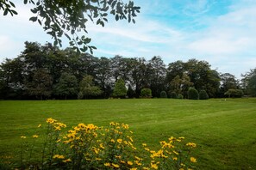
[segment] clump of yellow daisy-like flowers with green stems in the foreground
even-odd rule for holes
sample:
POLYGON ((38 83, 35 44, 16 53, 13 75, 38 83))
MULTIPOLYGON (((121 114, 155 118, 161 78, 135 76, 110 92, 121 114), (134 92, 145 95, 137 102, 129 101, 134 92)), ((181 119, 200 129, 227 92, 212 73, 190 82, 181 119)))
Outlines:
POLYGON ((161 141, 158 149, 149 149, 147 143, 140 144, 143 148, 137 149, 128 124, 110 122, 107 127, 98 127, 80 123, 69 131, 63 131, 65 128, 66 124, 47 118, 47 136, 39 152, 42 155, 38 158, 33 155, 37 161, 31 160, 32 153, 35 153, 34 144, 24 143, 28 143, 28 140, 39 142, 37 138, 43 136, 22 136, 23 152, 17 168, 189 169, 195 167, 197 162, 196 158, 190 156, 196 143, 185 142, 184 137, 170 137, 167 141, 161 141), (28 156, 26 153, 29 153, 28 156))

